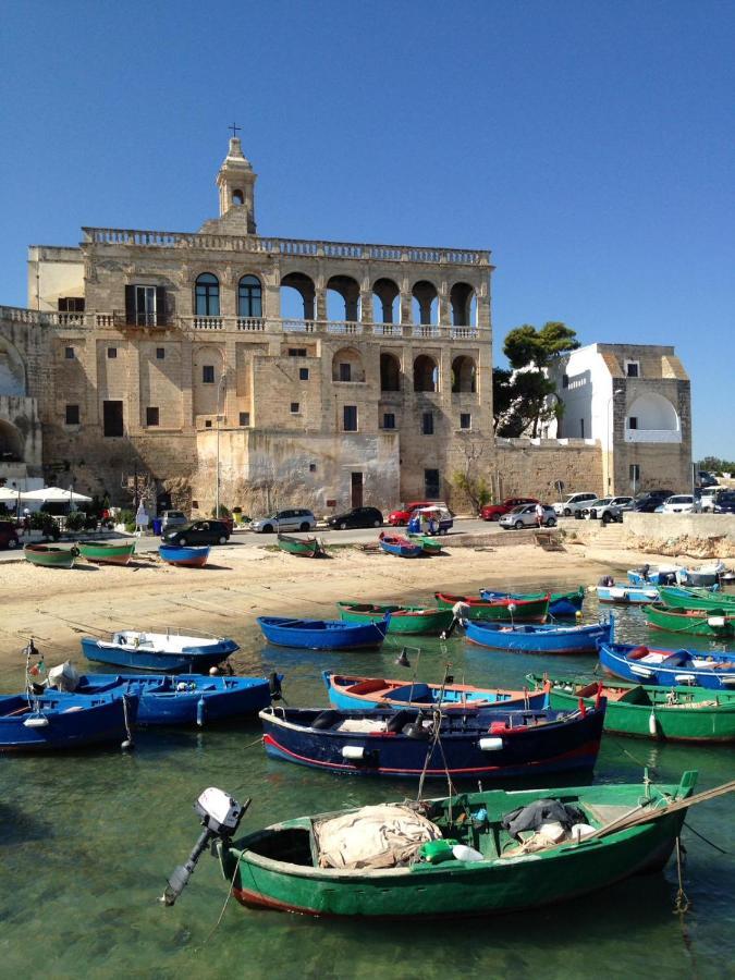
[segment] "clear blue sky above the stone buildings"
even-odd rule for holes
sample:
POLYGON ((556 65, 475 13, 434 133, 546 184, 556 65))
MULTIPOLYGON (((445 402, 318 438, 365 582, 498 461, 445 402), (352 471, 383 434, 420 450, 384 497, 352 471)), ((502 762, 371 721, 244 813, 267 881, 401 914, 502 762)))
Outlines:
POLYGON ((497 362, 673 343, 735 458, 734 4, 5 0, 0 51, 0 303, 28 244, 213 217, 234 119, 261 233, 490 248, 497 362))

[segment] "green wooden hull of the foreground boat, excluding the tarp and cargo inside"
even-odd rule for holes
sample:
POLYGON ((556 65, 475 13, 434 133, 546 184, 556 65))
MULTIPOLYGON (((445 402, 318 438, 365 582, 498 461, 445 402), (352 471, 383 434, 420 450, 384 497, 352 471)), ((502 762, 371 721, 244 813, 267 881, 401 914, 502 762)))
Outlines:
MULTIPOLYGON (((685 774, 685 779, 686 775, 691 774, 685 774)), ((679 796, 691 793, 684 780, 682 786, 665 789, 679 796)), ((564 798, 634 808, 641 791, 640 785, 569 788, 564 791, 564 798)), ((500 793, 468 794, 466 803, 474 810, 494 806, 495 810, 507 811, 541 795, 553 796, 553 791, 514 793, 511 797, 500 793)), ((564 902, 636 873, 662 868, 681 833, 684 813, 669 813, 650 823, 593 838, 584 846, 513 858, 489 854, 479 862, 450 860, 388 870, 343 871, 287 863, 258 853, 278 833, 308 835, 311 820, 319 819, 301 818, 250 834, 236 846, 222 844, 219 856, 234 896, 248 907, 359 918, 492 915, 564 902)))

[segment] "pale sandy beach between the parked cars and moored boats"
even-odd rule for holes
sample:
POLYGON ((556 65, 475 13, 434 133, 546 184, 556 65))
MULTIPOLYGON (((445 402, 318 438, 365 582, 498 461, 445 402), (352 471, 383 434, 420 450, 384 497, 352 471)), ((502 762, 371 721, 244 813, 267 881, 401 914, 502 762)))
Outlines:
POLYGON ((30 637, 48 663, 81 658, 79 637, 114 629, 171 627, 224 634, 268 614, 336 617, 338 599, 429 600, 436 590, 574 588, 611 569, 653 556, 566 546, 562 552, 516 544, 446 547, 442 556, 405 561, 339 548, 310 561, 264 548, 231 547, 203 569, 174 568, 155 555, 126 567, 79 561, 70 571, 26 562, 0 564, 0 684, 17 684, 21 650, 30 637))

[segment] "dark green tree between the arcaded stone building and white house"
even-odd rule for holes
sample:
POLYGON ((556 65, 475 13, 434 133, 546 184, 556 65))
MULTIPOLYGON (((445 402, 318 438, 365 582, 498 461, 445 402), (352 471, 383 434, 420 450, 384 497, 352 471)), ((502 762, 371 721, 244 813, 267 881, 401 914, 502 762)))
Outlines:
POLYGON ((558 320, 540 330, 529 323, 511 330, 503 354, 513 370, 492 372, 495 434, 512 439, 530 429, 536 437, 543 422, 561 417, 562 404, 549 371, 559 357, 578 346, 575 331, 558 320))

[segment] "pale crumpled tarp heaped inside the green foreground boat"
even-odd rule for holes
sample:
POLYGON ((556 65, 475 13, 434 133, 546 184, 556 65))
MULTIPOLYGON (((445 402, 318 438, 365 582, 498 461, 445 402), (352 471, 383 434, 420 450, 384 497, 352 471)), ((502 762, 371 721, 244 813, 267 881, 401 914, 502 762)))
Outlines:
POLYGON ((441 831, 409 807, 363 807, 314 825, 320 868, 394 868, 441 831))

